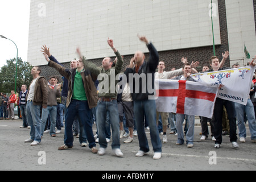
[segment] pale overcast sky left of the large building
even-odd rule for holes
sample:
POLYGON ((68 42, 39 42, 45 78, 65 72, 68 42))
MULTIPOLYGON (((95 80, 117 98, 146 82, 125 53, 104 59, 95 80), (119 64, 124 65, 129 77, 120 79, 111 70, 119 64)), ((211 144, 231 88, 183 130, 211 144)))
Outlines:
MULTIPOLYGON (((27 61, 30 0, 0 2, 0 35, 13 40, 18 47, 18 57, 27 61)), ((13 42, 0 38, 0 68, 6 65, 6 60, 16 58, 16 47, 13 42)))

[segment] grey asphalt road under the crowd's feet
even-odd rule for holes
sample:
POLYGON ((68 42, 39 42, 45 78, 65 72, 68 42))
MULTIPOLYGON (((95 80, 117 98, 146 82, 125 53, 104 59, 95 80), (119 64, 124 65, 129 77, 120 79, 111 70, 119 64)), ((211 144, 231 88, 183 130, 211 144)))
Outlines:
MULTIPOLYGON (((198 121, 196 121, 198 123, 198 121)), ((256 169, 256 143, 250 142, 249 128, 246 143, 240 143, 240 148, 233 148, 229 137, 223 137, 221 148, 215 149, 214 142, 207 139, 200 141, 201 126, 195 126, 195 142, 193 148, 176 146, 177 138, 174 134, 167 134, 168 143, 163 144, 162 158, 152 159, 153 152, 150 142, 150 131, 147 131, 150 152, 142 158, 135 157, 139 150, 138 138, 125 144, 125 138, 120 139, 123 158, 112 155, 111 143, 106 154, 99 156, 92 154, 89 147, 80 147, 79 139, 74 138, 73 148, 58 151, 63 145, 64 128, 55 138, 45 134, 38 146, 31 147, 24 143, 30 138, 30 129, 20 129, 21 120, 0 121, 0 170, 18 171, 56 171, 56 170, 83 170, 83 171, 187 171, 187 170, 245 170, 256 169), (214 158, 216 157, 216 158, 214 158)), ((96 133, 96 126, 93 125, 96 133)), ((170 130, 168 130, 170 131, 170 130)), ((238 130, 237 130, 238 132, 238 130)), ((162 136, 160 136, 162 138, 162 136)), ((97 148, 99 145, 97 144, 97 148)))

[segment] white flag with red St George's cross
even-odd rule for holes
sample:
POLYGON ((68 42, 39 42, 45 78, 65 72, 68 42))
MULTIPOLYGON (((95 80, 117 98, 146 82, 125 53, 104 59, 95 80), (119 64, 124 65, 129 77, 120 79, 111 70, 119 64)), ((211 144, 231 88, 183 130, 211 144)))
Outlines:
POLYGON ((156 110, 212 118, 217 86, 183 80, 155 80, 156 110))

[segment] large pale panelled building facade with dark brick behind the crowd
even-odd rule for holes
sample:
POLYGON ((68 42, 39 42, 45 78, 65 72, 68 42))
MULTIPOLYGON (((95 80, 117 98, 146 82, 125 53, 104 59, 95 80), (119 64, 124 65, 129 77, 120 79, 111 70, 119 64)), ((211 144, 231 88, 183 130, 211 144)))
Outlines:
MULTIPOLYGON (((166 71, 180 68, 181 57, 202 66, 213 55, 230 52, 226 66, 256 55, 255 0, 35 0, 31 1, 28 61, 40 65, 43 75, 57 75, 40 52, 46 44, 60 63, 69 67, 80 47, 86 59, 101 65, 106 56, 114 56, 107 40, 125 57, 125 67, 137 50, 148 50, 137 35, 146 35, 166 63, 166 71), (212 7, 212 10, 211 10, 212 7)), ((199 71, 201 67, 197 68, 199 71)))

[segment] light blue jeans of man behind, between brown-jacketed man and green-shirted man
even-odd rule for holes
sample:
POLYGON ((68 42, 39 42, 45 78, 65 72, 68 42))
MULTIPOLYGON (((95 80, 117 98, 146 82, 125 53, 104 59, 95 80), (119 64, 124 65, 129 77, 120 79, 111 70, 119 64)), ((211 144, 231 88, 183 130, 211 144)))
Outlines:
POLYGON ((55 132, 55 126, 56 126, 56 115, 57 115, 57 106, 47 106, 46 109, 43 108, 42 110, 42 136, 44 134, 44 128, 46 127, 46 121, 48 118, 48 115, 51 116, 51 127, 50 127, 50 135, 56 134, 55 132))

